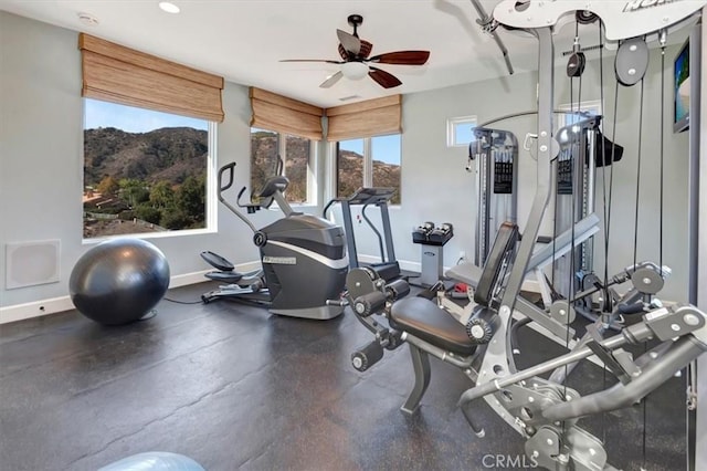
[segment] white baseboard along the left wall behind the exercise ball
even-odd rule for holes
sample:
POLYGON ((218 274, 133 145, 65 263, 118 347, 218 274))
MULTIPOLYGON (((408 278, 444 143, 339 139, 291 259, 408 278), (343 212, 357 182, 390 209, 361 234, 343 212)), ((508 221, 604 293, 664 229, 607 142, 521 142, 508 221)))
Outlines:
MULTIPOLYGON (((260 266, 260 262, 247 262, 236 266, 238 271, 251 271, 260 266)), ((184 273, 171 276, 169 287, 180 287, 205 281, 204 274, 211 270, 202 270, 193 273, 184 273)), ((68 295, 52 297, 49 300, 33 301, 24 304, 14 304, 0 307, 0 325, 11 322, 24 321, 33 317, 41 317, 50 314, 57 314, 74 308, 74 303, 68 295)))

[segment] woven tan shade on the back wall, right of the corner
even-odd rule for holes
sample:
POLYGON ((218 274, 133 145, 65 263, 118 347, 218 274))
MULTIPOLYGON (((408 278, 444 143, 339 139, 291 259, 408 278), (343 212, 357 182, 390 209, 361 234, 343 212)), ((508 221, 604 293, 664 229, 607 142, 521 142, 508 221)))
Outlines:
POLYGON ((402 133, 402 95, 327 108, 327 140, 402 133))

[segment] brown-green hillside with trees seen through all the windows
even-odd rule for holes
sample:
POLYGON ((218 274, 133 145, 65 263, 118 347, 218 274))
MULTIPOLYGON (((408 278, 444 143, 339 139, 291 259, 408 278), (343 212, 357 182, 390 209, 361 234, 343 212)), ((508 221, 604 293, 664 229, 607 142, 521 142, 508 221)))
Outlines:
MULTIPOLYGON (((302 202, 310 143, 286 138, 286 197, 302 202)), ((251 189, 257 190, 275 172, 277 135, 252 133, 251 146, 251 189)), ((84 237, 205 227, 208 151, 208 132, 189 127, 84 130, 84 237)), ((363 158, 342 150, 338 165, 339 195, 350 195, 361 186, 363 158)), ((399 188, 400 166, 373 161, 373 182, 399 188)))

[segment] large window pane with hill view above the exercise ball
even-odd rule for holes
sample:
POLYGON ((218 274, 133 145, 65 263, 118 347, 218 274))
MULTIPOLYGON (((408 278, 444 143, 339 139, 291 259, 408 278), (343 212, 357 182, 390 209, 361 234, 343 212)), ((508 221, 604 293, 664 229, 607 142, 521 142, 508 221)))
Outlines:
POLYGON ((98 100, 84 104, 84 238, 207 228, 215 126, 98 100))

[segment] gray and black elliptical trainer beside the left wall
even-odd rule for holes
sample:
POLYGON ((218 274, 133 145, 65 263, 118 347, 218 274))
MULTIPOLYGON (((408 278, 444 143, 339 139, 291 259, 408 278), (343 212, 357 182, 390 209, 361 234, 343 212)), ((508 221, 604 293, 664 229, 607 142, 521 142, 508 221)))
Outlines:
MULTIPOLYGON (((251 228, 263 266, 254 272, 238 273, 233 271, 233 264, 222 257, 202 252, 202 259, 218 269, 207 273, 207 278, 229 283, 203 294, 202 301, 243 300, 265 304, 273 314, 321 321, 341 314, 341 306, 328 303, 340 299, 348 272, 341 228, 325 219, 294 211, 283 195, 288 185, 287 178, 275 176, 268 178, 254 196, 258 201, 274 200, 285 217, 256 229, 223 196, 233 186, 234 168, 235 163, 231 163, 219 170, 219 201, 251 228)), ((260 202, 241 202, 244 192, 245 187, 239 192, 238 207, 249 214, 260 210, 260 202)))

